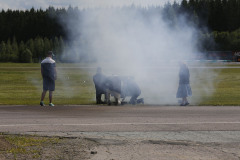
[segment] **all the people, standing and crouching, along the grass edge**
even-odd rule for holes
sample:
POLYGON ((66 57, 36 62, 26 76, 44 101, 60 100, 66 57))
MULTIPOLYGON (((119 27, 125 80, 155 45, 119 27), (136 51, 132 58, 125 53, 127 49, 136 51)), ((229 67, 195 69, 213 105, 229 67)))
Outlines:
MULTIPOLYGON (((41 95, 40 105, 45 106, 44 98, 46 92, 49 91, 49 106, 54 106, 52 103, 52 93, 55 90, 55 80, 57 79, 56 63, 53 60, 53 52, 49 51, 46 58, 41 62, 41 75, 43 79, 43 91, 41 95)), ((189 105, 187 97, 192 95, 191 86, 189 83, 190 74, 187 65, 179 62, 179 86, 176 97, 181 98, 181 106, 189 105)), ((141 94, 141 90, 137 83, 131 77, 110 76, 107 77, 102 73, 102 69, 97 68, 97 73, 93 76, 93 82, 96 89, 97 104, 111 104, 110 96, 114 96, 116 104, 124 103, 124 99, 130 96, 128 103, 138 104, 144 103, 143 98, 137 99, 141 94), (102 95, 105 99, 102 100, 102 95), (122 99, 122 100, 121 100, 122 99)))

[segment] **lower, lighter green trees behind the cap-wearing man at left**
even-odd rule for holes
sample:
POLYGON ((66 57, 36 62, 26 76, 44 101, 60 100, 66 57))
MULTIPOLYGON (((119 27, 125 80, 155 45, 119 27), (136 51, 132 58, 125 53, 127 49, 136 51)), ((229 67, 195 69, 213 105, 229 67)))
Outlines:
POLYGON ((16 38, 8 39, 7 42, 0 43, 0 62, 37 63, 46 57, 49 50, 58 53, 55 58, 61 61, 64 46, 62 37, 55 37, 53 40, 46 37, 36 37, 19 43, 16 38))

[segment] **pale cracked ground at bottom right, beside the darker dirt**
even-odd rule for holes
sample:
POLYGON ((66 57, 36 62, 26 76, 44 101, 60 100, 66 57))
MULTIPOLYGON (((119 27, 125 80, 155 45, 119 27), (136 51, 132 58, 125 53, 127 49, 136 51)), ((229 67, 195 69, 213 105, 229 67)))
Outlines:
POLYGON ((188 141, 129 141, 124 145, 99 145, 91 160, 239 160, 240 143, 188 141))

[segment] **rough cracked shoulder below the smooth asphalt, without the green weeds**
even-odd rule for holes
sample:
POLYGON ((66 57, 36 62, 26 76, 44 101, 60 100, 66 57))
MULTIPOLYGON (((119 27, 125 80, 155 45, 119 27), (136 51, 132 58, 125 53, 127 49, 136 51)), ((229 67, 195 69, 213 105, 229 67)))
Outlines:
MULTIPOLYGON (((28 154, 6 152, 14 146, 1 135, 0 160, 239 160, 240 139, 235 136, 238 134, 236 131, 68 132, 61 133, 61 136, 53 136, 57 133, 29 132, 24 136, 59 139, 57 143, 44 143, 38 146, 38 156, 32 152, 28 154)), ((28 146, 26 149, 33 150, 36 146, 28 146)))

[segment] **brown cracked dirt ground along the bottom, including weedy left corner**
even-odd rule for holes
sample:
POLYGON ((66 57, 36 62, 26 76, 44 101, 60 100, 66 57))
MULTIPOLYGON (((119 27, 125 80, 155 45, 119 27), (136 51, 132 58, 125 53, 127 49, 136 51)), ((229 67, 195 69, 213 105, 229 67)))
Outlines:
POLYGON ((142 141, 0 135, 0 147, 0 160, 240 159, 240 142, 203 143, 182 140, 142 141), (26 144, 22 142, 26 142, 26 144))

